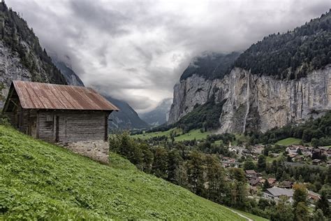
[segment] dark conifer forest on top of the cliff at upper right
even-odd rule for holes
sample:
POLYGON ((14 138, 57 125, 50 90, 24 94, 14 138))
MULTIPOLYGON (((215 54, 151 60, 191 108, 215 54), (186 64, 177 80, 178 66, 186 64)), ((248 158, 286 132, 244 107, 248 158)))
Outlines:
POLYGON ((270 34, 245 50, 234 66, 257 75, 297 79, 331 60, 331 13, 284 34, 270 34))

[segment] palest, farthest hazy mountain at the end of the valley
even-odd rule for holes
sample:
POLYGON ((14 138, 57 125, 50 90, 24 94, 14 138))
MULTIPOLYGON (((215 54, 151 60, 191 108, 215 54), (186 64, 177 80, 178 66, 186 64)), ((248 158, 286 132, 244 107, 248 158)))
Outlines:
POLYGON ((142 120, 152 126, 159 126, 168 120, 172 98, 164 99, 154 110, 140 114, 142 120))

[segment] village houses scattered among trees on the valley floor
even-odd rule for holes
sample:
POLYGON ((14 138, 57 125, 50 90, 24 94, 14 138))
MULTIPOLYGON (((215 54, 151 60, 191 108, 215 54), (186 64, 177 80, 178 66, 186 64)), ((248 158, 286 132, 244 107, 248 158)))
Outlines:
MULTIPOLYGON (((235 157, 221 157, 221 163, 225 168, 245 167, 244 159, 251 159, 253 162, 258 161, 258 157, 265 154, 266 145, 254 145, 249 148, 244 146, 228 145, 229 152, 232 152, 235 157)), ((275 161, 283 157, 286 159, 284 164, 289 166, 330 166, 331 165, 331 149, 329 147, 311 147, 304 145, 288 145, 283 147, 284 152, 267 152, 267 160, 275 161)), ((258 173, 254 169, 244 169, 245 176, 249 185, 249 194, 251 198, 260 198, 279 201, 281 197, 286 197, 289 202, 293 202, 293 185, 297 180, 277 180, 277 178, 269 176, 264 171, 258 173)), ((315 207, 316 202, 321 199, 320 194, 308 190, 309 206, 315 207)), ((328 200, 331 203, 331 200, 328 200)))

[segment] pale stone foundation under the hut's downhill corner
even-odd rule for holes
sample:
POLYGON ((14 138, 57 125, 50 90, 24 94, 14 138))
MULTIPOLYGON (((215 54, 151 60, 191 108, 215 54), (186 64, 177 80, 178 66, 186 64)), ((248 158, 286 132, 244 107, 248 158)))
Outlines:
POLYGON ((98 162, 109 163, 109 144, 105 141, 79 141, 75 143, 62 143, 64 148, 75 153, 89 157, 98 162))

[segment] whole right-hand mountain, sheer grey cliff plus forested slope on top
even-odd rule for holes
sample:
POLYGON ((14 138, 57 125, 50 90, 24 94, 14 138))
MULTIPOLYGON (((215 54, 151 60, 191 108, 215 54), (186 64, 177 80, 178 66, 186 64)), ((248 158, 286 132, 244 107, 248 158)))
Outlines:
MULTIPOLYGON (((204 106, 210 99, 215 104, 225 101, 218 112, 218 122, 212 122, 219 124, 218 133, 267 131, 273 127, 304 122, 310 117, 323 115, 331 108, 331 13, 326 13, 311 22, 295 29, 297 34, 293 38, 288 38, 288 35, 293 34, 293 31, 289 31, 287 34, 270 35, 263 41, 253 44, 235 59, 232 69, 219 78, 206 78, 203 74, 193 73, 189 78, 180 80, 174 87, 168 124, 175 124, 197 106, 204 106), (311 38, 300 37, 309 27, 312 31, 307 33, 312 33, 311 38), (323 28, 314 36, 318 27, 323 28), (315 37, 319 40, 313 41, 315 37), (284 41, 279 41, 279 38, 284 38, 284 41), (286 39, 289 39, 288 44, 286 39), (327 45, 326 48, 321 47, 324 44, 327 45), (291 50, 295 45, 298 49, 291 50), (303 50, 302 48, 306 51, 300 57, 297 53, 303 50), (251 51, 254 53, 251 54, 251 51), (289 53, 288 64, 281 62, 284 52, 289 53), (293 52, 293 55, 290 52, 293 52), (262 59, 264 62, 258 60, 262 55, 265 58, 262 59), (307 59, 304 59, 304 56, 307 59), (274 65, 277 59, 280 60, 279 65, 274 65), (297 63, 293 66, 295 69, 288 68, 288 65, 292 64, 291 61, 299 62, 300 68, 297 68, 297 63), (313 63, 323 66, 314 66, 313 63), (244 66, 245 69, 241 66, 244 64, 247 65, 244 66), (280 74, 258 71, 260 67, 268 66, 272 66, 271 71, 277 67, 280 74), (285 76, 281 70, 287 71, 288 74, 285 76)), ((209 73, 209 69, 206 73, 209 73)), ((196 115, 195 118, 199 117, 196 115)), ((194 124, 198 125, 196 122, 194 124)), ((192 127, 192 124, 183 124, 182 127, 192 127)))

